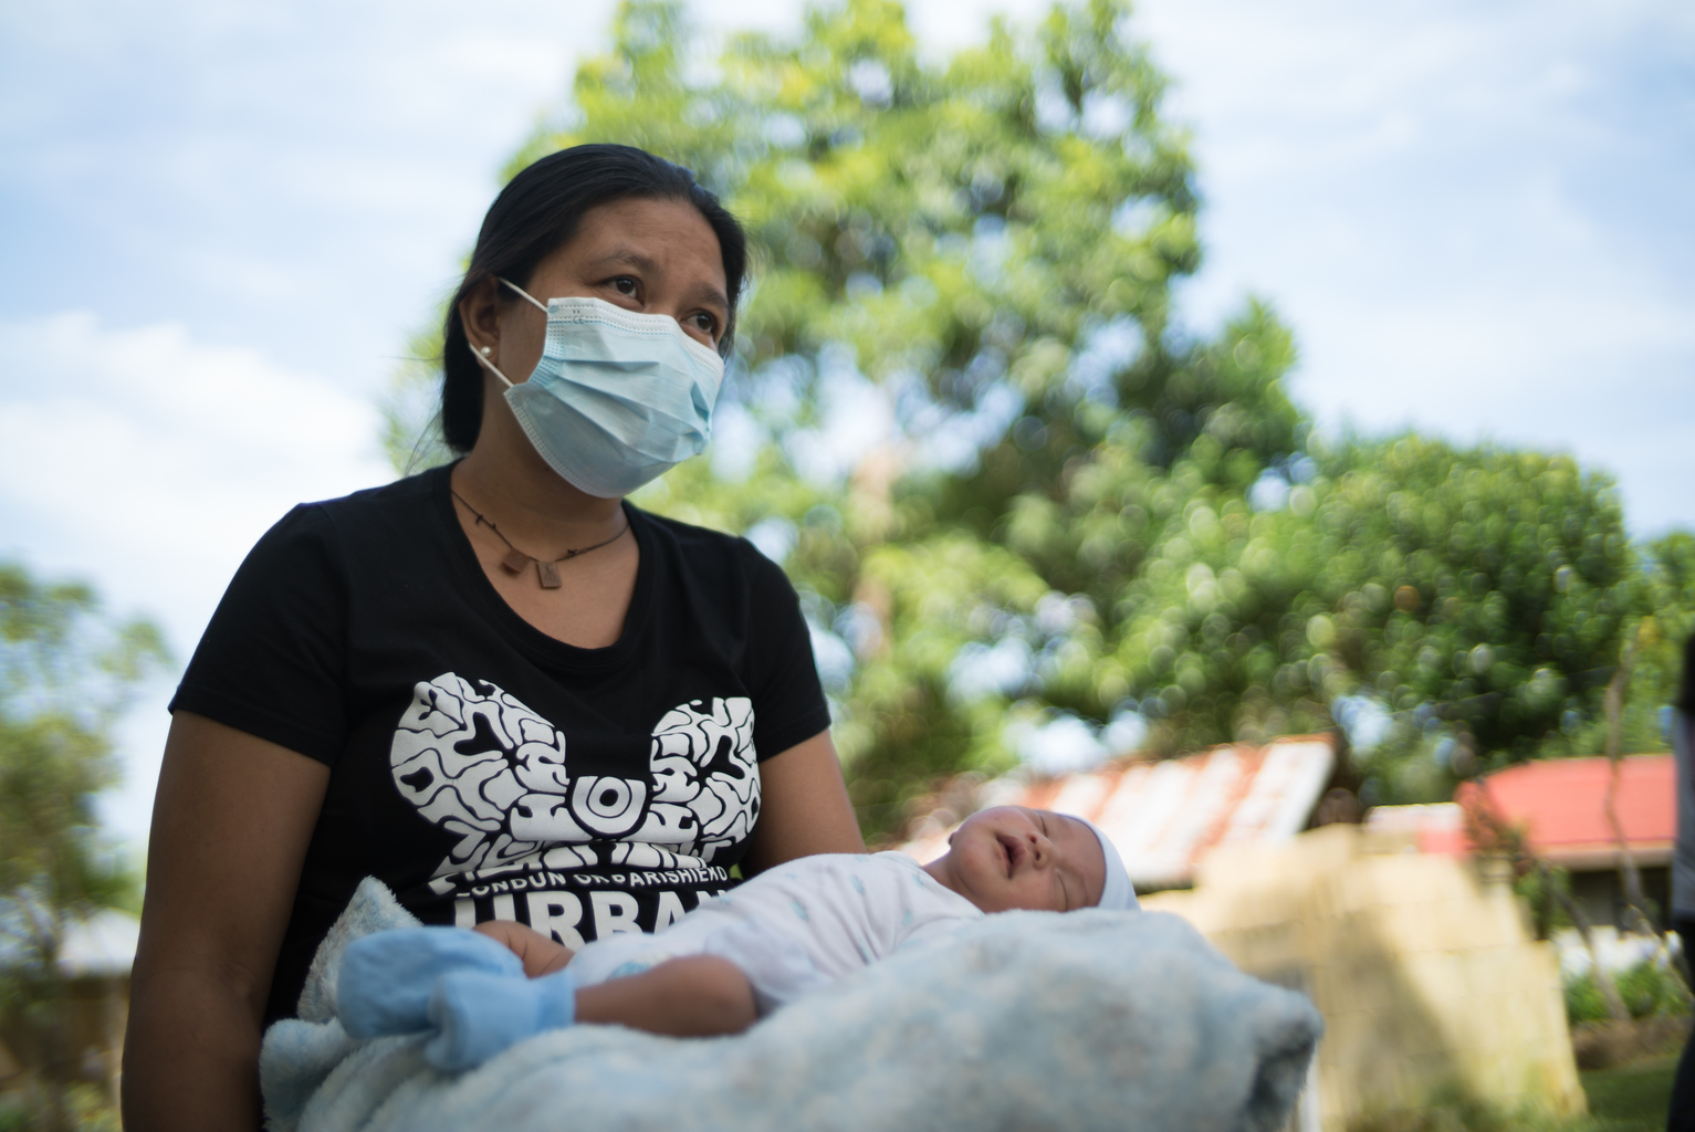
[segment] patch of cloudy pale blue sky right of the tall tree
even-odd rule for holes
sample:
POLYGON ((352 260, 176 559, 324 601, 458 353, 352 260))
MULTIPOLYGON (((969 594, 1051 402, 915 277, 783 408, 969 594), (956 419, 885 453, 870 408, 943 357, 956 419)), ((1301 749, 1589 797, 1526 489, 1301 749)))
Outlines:
POLYGON ((1695 525, 1695 10, 1144 0, 1207 208, 1209 325, 1268 297, 1327 429, 1568 451, 1695 525))

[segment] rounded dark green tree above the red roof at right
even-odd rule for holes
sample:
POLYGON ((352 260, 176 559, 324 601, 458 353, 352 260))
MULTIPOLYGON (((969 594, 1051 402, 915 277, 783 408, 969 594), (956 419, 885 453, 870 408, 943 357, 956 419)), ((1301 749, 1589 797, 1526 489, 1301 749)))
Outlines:
POLYGON ((1600 717, 1636 612, 1605 478, 1417 436, 1315 456, 1232 563, 1261 610, 1236 649, 1237 720, 1266 712, 1276 730, 1290 702, 1375 712, 1380 744, 1356 749, 1373 791, 1425 802, 1600 717))

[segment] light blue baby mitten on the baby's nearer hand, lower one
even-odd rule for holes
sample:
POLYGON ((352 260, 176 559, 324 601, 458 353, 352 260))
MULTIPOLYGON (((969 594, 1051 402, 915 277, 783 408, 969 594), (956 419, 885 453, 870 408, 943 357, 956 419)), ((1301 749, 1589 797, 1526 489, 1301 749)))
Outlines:
POLYGON ((525 1037, 576 1018, 576 979, 564 968, 539 979, 449 971, 436 979, 429 1020, 437 1034, 424 1059, 437 1069, 471 1069, 525 1037))

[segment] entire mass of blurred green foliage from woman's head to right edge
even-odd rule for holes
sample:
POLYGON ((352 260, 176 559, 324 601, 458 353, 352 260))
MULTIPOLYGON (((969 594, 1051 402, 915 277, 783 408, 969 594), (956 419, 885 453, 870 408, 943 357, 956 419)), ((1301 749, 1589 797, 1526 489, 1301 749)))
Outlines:
MULTIPOLYGON (((958 771, 1336 725, 1368 803, 1446 798, 1598 752, 1627 637, 1626 751, 1663 749, 1695 541, 1632 544, 1564 456, 1324 442, 1261 300, 1175 324, 1198 200, 1125 3, 941 63, 888 0, 715 58, 680 3, 629 0, 612 41, 507 175, 636 144, 747 224, 714 446, 636 502, 785 564, 870 834, 958 771)), ((439 341, 412 352, 402 469, 444 458, 439 341)))

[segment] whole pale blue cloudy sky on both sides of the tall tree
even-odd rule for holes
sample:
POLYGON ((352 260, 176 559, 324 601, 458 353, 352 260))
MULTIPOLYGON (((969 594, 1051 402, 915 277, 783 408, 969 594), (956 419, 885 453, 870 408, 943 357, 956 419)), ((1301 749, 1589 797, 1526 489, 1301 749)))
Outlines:
MULTIPOLYGON (((936 56, 997 10, 1042 5, 910 5, 936 56)), ((0 556, 186 659, 266 525, 388 476, 375 402, 610 12, 0 5, 0 556)), ((1695 8, 1148 0, 1134 27, 1195 137, 1193 324, 1259 295, 1327 430, 1568 451, 1636 534, 1695 527, 1695 8)), ((122 734, 132 841, 168 695, 122 734)))

